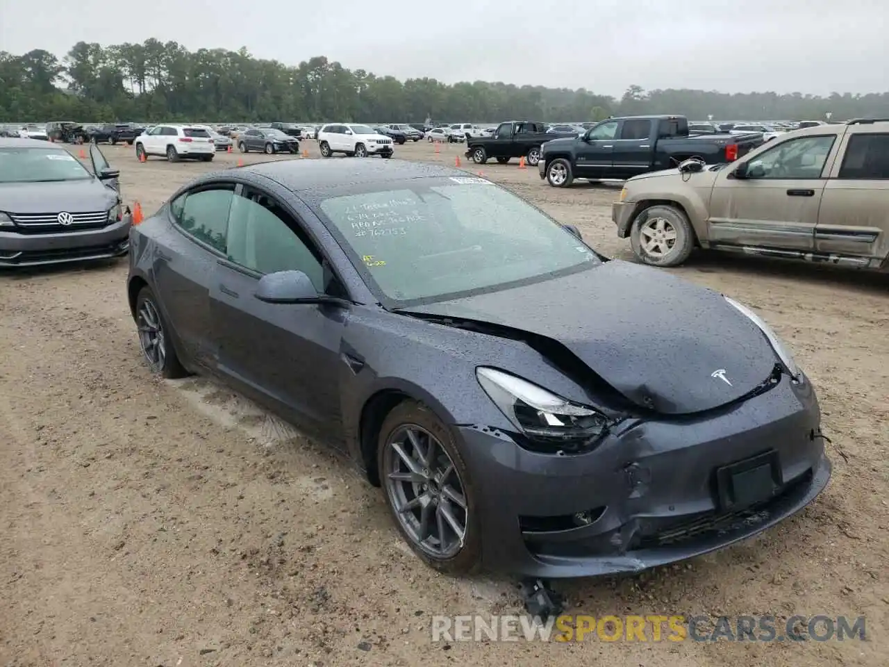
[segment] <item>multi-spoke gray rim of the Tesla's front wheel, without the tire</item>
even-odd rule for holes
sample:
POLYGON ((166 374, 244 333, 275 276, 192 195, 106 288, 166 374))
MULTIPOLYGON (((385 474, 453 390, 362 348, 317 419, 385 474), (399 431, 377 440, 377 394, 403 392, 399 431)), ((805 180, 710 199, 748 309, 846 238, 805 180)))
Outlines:
POLYGON ((466 539, 466 495, 445 447, 414 424, 396 430, 383 452, 386 492, 404 532, 436 559, 456 555, 466 539))

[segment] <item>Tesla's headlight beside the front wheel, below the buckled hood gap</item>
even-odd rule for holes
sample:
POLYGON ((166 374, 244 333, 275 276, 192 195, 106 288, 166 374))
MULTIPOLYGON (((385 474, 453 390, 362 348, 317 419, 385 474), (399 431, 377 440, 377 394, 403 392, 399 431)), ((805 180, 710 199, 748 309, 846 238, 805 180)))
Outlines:
POLYGON ((516 375, 480 367, 482 389, 527 438, 553 451, 577 451, 605 435, 609 419, 589 406, 572 403, 516 375))

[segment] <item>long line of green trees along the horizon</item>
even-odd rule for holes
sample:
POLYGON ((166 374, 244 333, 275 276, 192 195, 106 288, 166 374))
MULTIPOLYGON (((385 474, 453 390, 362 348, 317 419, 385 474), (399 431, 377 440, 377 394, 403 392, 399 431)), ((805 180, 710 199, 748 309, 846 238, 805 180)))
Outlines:
POLYGON ((324 56, 291 67, 253 58, 245 48, 190 52, 154 38, 110 46, 78 42, 61 60, 43 49, 0 52, 0 122, 583 122, 641 113, 695 120, 889 117, 889 92, 820 97, 630 85, 617 99, 584 88, 448 85, 428 77, 403 82, 324 56))

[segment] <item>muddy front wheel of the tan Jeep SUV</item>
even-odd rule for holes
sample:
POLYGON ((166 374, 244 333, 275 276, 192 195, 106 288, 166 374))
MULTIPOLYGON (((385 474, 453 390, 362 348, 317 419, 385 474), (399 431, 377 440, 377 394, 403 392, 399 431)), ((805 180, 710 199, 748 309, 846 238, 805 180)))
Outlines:
POLYGON ((694 229, 688 216, 670 205, 646 208, 633 221, 629 243, 639 261, 652 266, 678 266, 694 248, 694 229))

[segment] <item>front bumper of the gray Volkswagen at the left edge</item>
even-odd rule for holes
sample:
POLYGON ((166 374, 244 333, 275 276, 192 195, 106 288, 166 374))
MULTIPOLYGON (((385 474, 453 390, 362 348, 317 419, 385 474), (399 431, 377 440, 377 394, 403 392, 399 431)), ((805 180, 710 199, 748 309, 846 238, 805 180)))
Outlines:
POLYGON ((130 247, 132 216, 101 229, 54 234, 0 231, 0 268, 41 266, 66 261, 119 257, 130 247))

